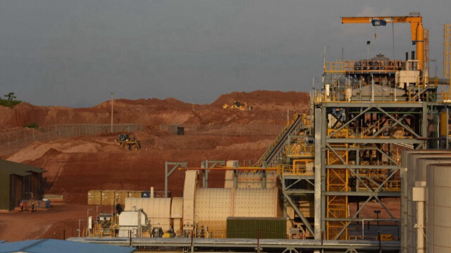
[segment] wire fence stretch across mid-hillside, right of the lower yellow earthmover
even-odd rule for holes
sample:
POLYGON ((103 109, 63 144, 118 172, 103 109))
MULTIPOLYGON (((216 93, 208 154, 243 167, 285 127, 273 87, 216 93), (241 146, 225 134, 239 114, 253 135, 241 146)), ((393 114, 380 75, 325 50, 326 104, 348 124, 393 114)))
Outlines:
POLYGON ((185 135, 275 136, 285 129, 285 125, 160 125, 160 130, 166 130, 173 134, 180 132, 180 128, 183 128, 185 135))

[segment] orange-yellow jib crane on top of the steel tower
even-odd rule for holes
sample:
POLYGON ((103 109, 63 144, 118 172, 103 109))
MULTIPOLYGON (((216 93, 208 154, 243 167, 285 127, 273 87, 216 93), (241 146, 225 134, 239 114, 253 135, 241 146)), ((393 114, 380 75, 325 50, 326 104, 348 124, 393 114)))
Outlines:
POLYGON ((380 17, 342 17, 342 24, 371 23, 373 26, 385 26, 387 23, 410 23, 412 44, 416 44, 416 59, 419 61, 419 69, 424 69, 424 28, 423 18, 419 13, 416 16, 380 16, 380 17))

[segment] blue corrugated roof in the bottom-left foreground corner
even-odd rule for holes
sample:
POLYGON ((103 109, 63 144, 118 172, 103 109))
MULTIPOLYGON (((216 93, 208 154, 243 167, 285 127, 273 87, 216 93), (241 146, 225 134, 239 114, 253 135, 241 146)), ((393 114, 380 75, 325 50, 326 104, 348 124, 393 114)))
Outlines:
POLYGON ((71 242, 55 239, 28 240, 21 242, 5 242, 0 244, 0 253, 6 252, 29 252, 29 253, 130 253, 134 247, 121 247, 114 245, 100 245, 88 242, 71 242))

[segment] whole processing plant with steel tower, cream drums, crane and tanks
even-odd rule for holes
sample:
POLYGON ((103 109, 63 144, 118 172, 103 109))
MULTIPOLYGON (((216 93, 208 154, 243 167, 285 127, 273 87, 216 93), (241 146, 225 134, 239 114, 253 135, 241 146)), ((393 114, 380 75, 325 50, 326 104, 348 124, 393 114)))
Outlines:
MULTIPOLYGON (((451 252, 451 25, 437 78, 419 13, 342 18, 352 23, 408 23, 416 51, 325 61, 310 114, 295 116, 254 166, 168 161, 164 196, 113 193, 121 214, 92 218, 85 237, 70 240, 180 252, 451 252), (175 170, 185 173, 183 197, 168 196, 175 170), (208 187, 215 170, 226 171, 223 188, 208 187)), ((103 204, 103 192, 91 194, 103 204)))

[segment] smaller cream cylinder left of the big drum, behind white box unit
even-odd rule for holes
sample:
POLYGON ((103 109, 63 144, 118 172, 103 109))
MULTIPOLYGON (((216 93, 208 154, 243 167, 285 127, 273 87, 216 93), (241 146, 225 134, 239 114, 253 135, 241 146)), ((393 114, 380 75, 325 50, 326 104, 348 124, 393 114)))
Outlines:
POLYGON ((161 227, 165 232, 171 228, 171 198, 126 198, 125 211, 131 211, 132 206, 144 211, 152 227, 161 227))

